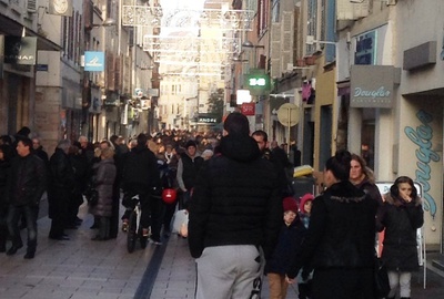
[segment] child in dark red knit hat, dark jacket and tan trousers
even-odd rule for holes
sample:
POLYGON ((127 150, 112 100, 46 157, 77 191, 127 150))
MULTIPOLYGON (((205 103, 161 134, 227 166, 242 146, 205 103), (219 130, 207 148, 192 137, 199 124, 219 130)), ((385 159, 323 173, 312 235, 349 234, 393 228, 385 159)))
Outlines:
POLYGON ((269 279, 270 298, 286 297, 289 283, 285 272, 297 252, 306 228, 297 215, 297 203, 293 197, 283 199, 284 221, 279 234, 279 241, 272 257, 266 261, 265 275, 269 279))

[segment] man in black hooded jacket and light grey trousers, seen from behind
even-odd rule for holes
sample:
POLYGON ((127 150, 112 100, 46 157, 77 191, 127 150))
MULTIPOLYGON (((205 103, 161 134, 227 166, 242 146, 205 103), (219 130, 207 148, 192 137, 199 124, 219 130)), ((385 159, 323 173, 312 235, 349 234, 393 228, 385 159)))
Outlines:
POLYGON ((246 116, 231 113, 220 154, 198 174, 188 237, 198 299, 259 296, 264 256, 276 244, 283 215, 278 175, 249 132, 246 116))

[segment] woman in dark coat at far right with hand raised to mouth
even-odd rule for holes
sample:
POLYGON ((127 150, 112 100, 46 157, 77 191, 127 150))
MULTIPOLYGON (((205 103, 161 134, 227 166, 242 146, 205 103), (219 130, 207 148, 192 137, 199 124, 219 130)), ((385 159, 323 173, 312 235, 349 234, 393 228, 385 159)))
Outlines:
POLYGON ((423 224, 423 207, 413 181, 400 176, 376 217, 377 230, 385 228, 382 260, 389 270, 387 299, 395 298, 398 288, 401 299, 410 298, 412 271, 418 268, 416 230, 423 224))

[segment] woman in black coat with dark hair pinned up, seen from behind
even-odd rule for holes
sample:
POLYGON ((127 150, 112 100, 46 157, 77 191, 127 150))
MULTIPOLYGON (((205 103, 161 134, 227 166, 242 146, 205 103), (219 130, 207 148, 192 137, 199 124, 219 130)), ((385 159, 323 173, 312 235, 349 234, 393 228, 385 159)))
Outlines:
POLYGON ((286 276, 313 275, 313 298, 374 299, 377 203, 350 179, 351 154, 337 152, 324 168, 325 192, 313 200, 310 226, 286 276))

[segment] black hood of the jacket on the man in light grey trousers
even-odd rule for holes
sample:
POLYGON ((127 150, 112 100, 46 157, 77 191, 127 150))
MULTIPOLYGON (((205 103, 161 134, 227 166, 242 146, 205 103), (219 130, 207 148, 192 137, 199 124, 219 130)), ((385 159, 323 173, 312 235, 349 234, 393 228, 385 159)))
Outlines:
POLYGON ((240 162, 250 162, 261 156, 258 143, 252 137, 233 134, 222 137, 221 153, 240 162))

